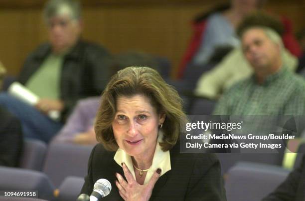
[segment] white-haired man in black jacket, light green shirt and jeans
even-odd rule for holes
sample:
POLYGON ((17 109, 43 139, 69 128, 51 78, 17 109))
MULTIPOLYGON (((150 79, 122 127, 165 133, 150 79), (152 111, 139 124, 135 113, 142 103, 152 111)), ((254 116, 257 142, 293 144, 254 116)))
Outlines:
POLYGON ((18 81, 39 97, 34 107, 2 93, 0 105, 17 116, 24 136, 48 142, 77 100, 101 94, 110 77, 111 57, 99 45, 81 39, 78 0, 49 0, 44 8, 49 42, 32 52, 18 81), (61 121, 47 114, 57 111, 61 121))

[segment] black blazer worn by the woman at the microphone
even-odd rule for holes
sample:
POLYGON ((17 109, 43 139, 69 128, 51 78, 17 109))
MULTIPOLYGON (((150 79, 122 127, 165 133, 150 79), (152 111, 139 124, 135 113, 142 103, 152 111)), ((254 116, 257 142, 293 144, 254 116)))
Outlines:
MULTIPOLYGON (((226 201, 220 164, 214 154, 180 154, 177 143, 170 151, 171 170, 156 182, 150 201, 226 201)), ((122 201, 115 185, 115 173, 124 176, 114 161, 114 152, 95 146, 88 163, 88 175, 81 194, 90 196, 94 183, 107 179, 112 185, 105 201, 122 201)))

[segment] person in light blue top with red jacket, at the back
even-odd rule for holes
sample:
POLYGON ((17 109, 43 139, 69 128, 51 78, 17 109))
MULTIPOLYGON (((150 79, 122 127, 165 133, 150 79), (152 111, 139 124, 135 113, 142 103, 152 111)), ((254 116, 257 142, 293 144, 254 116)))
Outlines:
MULTIPOLYGON (((178 78, 184 78, 188 65, 208 63, 218 49, 237 46, 235 28, 243 18, 263 6, 263 0, 232 0, 226 5, 204 13, 193 22, 193 36, 182 57, 178 69, 178 78)), ((292 23, 287 17, 280 17, 284 25, 282 39, 285 47, 295 56, 302 54, 301 47, 293 34, 292 23)))

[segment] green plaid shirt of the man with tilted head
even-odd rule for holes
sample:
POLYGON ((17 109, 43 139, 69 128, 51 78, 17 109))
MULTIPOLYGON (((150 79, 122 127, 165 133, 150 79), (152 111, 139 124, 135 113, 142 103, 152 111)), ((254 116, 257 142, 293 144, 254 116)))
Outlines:
POLYGON ((304 115, 305 79, 283 67, 263 84, 254 76, 232 86, 214 115, 304 115))

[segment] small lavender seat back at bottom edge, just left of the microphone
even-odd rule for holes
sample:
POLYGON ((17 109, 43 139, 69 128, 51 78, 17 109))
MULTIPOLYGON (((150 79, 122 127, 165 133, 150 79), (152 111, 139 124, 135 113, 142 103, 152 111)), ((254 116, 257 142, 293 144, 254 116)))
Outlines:
POLYGON ((76 201, 83 185, 84 178, 67 177, 59 187, 58 201, 76 201))

